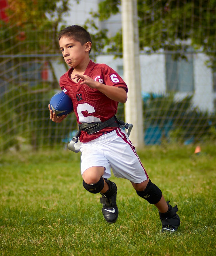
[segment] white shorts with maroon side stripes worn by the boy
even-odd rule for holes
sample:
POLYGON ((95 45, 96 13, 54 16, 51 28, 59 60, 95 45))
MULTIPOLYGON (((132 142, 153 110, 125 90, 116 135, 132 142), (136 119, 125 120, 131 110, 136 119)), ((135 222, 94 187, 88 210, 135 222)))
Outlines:
POLYGON ((125 178, 134 183, 148 179, 135 147, 121 128, 82 143, 80 150, 82 174, 92 166, 103 166, 103 178, 110 178, 112 169, 115 177, 125 178))

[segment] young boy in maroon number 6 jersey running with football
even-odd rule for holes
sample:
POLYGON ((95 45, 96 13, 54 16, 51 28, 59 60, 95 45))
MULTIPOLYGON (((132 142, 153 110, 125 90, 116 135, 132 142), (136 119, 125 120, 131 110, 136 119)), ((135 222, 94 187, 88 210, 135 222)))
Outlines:
MULTIPOLYGON (((71 67, 60 78, 61 89, 71 97, 81 131, 81 173, 83 186, 90 193, 101 193, 102 213, 108 223, 118 218, 117 187, 108 178, 113 174, 130 180, 137 195, 159 211, 162 232, 174 232, 180 225, 177 206, 166 202, 161 190, 149 179, 136 149, 117 121, 118 102, 127 100, 127 85, 109 66, 90 60, 92 41, 83 28, 73 25, 59 34, 60 51, 71 67), (108 121, 109 120, 109 121, 108 121)), ((50 109, 50 119, 60 123, 50 109)))

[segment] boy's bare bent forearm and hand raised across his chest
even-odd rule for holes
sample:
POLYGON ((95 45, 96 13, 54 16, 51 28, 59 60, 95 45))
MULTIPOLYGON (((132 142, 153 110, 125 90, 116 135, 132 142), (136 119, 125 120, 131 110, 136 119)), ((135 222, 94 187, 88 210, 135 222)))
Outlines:
POLYGON ((102 84, 98 81, 93 80, 87 75, 75 74, 75 77, 73 79, 75 78, 77 78, 77 82, 79 81, 79 79, 81 79, 80 84, 87 84, 89 87, 97 89, 114 101, 118 101, 121 103, 125 103, 127 101, 128 96, 123 87, 107 86, 106 84, 102 84))

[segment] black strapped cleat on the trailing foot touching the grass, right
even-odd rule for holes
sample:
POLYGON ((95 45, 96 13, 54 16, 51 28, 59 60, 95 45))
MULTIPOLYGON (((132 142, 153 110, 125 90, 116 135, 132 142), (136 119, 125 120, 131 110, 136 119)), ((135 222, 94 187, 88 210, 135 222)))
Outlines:
POLYGON ((180 226, 180 218, 179 215, 176 213, 178 211, 177 205, 172 207, 169 204, 170 201, 166 202, 168 204, 168 212, 161 213, 159 212, 160 220, 162 222, 162 233, 163 232, 170 232, 173 233, 177 231, 178 227, 180 226))

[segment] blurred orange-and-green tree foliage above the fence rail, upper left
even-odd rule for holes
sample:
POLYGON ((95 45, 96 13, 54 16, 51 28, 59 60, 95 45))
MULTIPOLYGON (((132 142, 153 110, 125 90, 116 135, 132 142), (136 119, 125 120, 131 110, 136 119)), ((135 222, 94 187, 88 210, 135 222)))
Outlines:
POLYGON ((58 49, 56 34, 60 22, 63 23, 63 15, 69 11, 69 0, 7 0, 7 3, 5 13, 8 18, 1 20, 0 32, 1 38, 5 39, 1 40, 4 54, 7 50, 13 54, 58 49), (51 42, 45 40, 45 33, 51 42))

